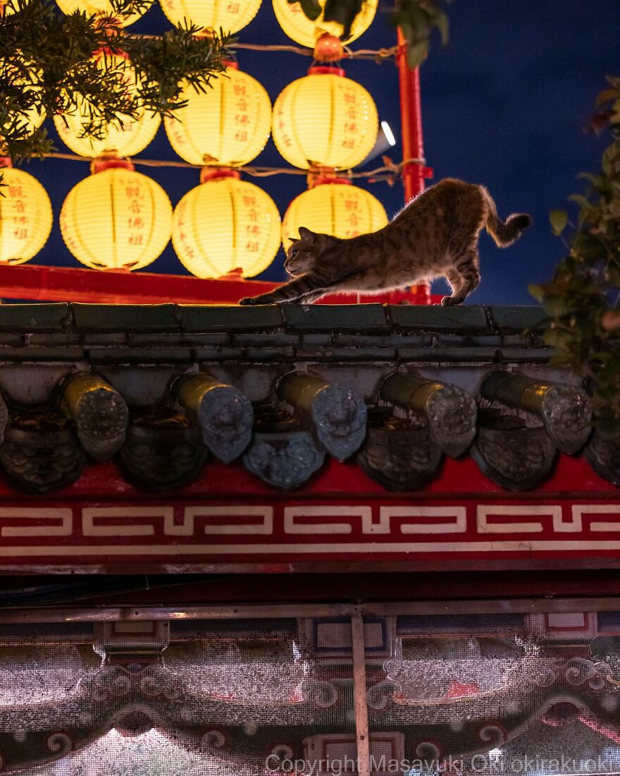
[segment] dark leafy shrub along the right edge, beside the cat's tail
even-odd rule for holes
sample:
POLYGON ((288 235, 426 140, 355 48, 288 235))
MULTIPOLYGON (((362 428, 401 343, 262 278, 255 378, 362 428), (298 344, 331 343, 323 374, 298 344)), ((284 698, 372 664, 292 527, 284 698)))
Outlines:
POLYGON ((553 210, 555 234, 571 233, 569 253, 547 283, 530 291, 549 315, 546 340, 557 348, 556 363, 587 377, 594 394, 598 426, 620 433, 620 78, 608 78, 598 95, 589 128, 609 133, 611 142, 597 175, 582 173, 584 193, 570 196, 576 223, 553 210))

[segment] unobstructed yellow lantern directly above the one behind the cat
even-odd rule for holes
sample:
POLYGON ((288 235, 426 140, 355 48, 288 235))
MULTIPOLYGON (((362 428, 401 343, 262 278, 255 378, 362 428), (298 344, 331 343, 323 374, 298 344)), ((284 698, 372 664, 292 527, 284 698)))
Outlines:
POLYGON ((374 146, 377 130, 372 97, 339 68, 310 68, 284 88, 274 105, 277 150, 301 169, 359 165, 374 146))

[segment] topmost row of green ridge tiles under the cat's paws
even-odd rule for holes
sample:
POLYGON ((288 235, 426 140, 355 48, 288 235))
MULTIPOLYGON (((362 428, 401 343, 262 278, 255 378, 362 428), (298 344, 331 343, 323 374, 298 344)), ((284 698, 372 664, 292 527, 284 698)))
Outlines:
POLYGON ((511 334, 542 331, 542 308, 467 305, 113 305, 84 303, 5 304, 0 331, 24 333, 100 332, 374 332, 436 331, 453 334, 511 334))

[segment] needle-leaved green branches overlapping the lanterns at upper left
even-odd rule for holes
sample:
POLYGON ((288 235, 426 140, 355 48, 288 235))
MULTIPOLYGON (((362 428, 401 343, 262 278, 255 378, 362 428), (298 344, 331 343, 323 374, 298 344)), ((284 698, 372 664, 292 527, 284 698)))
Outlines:
POLYGON ((184 103, 179 81, 208 86, 224 69, 229 36, 196 37, 198 27, 176 27, 160 38, 131 36, 115 16, 143 10, 146 0, 111 0, 113 12, 96 17, 76 11, 64 16, 51 0, 9 0, 14 11, 0 15, 0 137, 3 155, 13 160, 53 150, 43 129, 29 133, 33 112, 72 113, 88 100, 91 113, 84 136, 101 137, 106 123, 121 124, 140 106, 161 116, 184 103), (103 51, 105 67, 93 54, 103 51), (109 54, 124 52, 136 69, 136 95, 127 92, 122 63, 109 54))

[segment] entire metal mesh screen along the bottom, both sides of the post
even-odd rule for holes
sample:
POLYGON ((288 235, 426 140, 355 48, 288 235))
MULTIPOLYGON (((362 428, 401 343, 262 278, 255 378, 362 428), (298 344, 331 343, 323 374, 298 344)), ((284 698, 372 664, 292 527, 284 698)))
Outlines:
POLYGON ((3 626, 0 772, 620 774, 620 613, 367 616, 363 640, 370 762, 349 617, 3 626))

